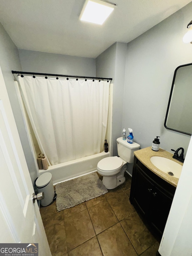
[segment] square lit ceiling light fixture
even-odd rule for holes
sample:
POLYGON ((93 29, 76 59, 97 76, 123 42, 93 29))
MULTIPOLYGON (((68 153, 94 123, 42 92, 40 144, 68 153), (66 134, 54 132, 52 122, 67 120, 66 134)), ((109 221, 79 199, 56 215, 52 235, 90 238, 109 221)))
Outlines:
POLYGON ((102 25, 112 13, 116 4, 101 0, 86 0, 80 14, 80 20, 102 25))

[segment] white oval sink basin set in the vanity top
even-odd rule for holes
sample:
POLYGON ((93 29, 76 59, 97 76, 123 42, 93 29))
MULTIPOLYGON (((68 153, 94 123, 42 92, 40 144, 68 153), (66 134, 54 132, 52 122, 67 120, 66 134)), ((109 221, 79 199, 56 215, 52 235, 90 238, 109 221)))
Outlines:
POLYGON ((182 171, 181 164, 178 164, 170 159, 167 159, 167 158, 161 157, 161 156, 152 156, 150 158, 150 161, 162 172, 167 173, 167 174, 169 174, 171 172, 171 173, 173 173, 173 175, 171 175, 171 176, 176 177, 178 179, 180 178, 181 171, 182 171))

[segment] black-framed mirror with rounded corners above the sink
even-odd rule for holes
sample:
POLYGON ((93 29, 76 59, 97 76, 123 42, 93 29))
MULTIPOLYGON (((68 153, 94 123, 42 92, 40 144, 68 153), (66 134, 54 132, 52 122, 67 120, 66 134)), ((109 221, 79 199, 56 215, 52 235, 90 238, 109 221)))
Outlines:
POLYGON ((164 126, 192 134, 192 63, 181 65, 174 72, 164 126))

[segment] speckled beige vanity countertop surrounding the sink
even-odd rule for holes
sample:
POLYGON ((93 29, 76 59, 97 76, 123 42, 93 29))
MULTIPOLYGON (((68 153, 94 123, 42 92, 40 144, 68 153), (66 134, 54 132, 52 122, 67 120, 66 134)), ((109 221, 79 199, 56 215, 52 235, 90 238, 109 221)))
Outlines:
POLYGON ((139 150, 135 151, 134 155, 137 157, 137 159, 139 159, 139 161, 142 162, 142 164, 144 164, 153 173, 157 174, 160 178, 164 179, 165 181, 167 181, 168 183, 170 183, 174 187, 177 186, 177 183, 178 183, 179 179, 177 179, 173 176, 170 176, 167 173, 162 172, 157 167, 155 167, 155 165, 153 165, 152 162, 150 161, 150 158, 152 156, 161 156, 161 157, 171 159, 174 162, 183 165, 183 163, 181 163, 181 162, 179 162, 179 161, 177 161, 176 159, 173 158, 172 153, 170 153, 170 152, 168 152, 164 149, 161 149, 161 148, 159 149, 159 151, 153 151, 151 149, 151 147, 147 147, 147 148, 139 149, 139 150))

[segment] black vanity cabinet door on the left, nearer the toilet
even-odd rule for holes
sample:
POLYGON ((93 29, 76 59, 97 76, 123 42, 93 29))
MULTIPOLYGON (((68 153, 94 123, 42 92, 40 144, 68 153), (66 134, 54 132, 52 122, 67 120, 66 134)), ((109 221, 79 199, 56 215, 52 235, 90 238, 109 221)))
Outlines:
POLYGON ((148 216, 151 208, 151 194, 154 190, 154 185, 147 179, 143 171, 140 170, 140 167, 137 165, 134 174, 133 204, 136 204, 142 213, 148 216))

